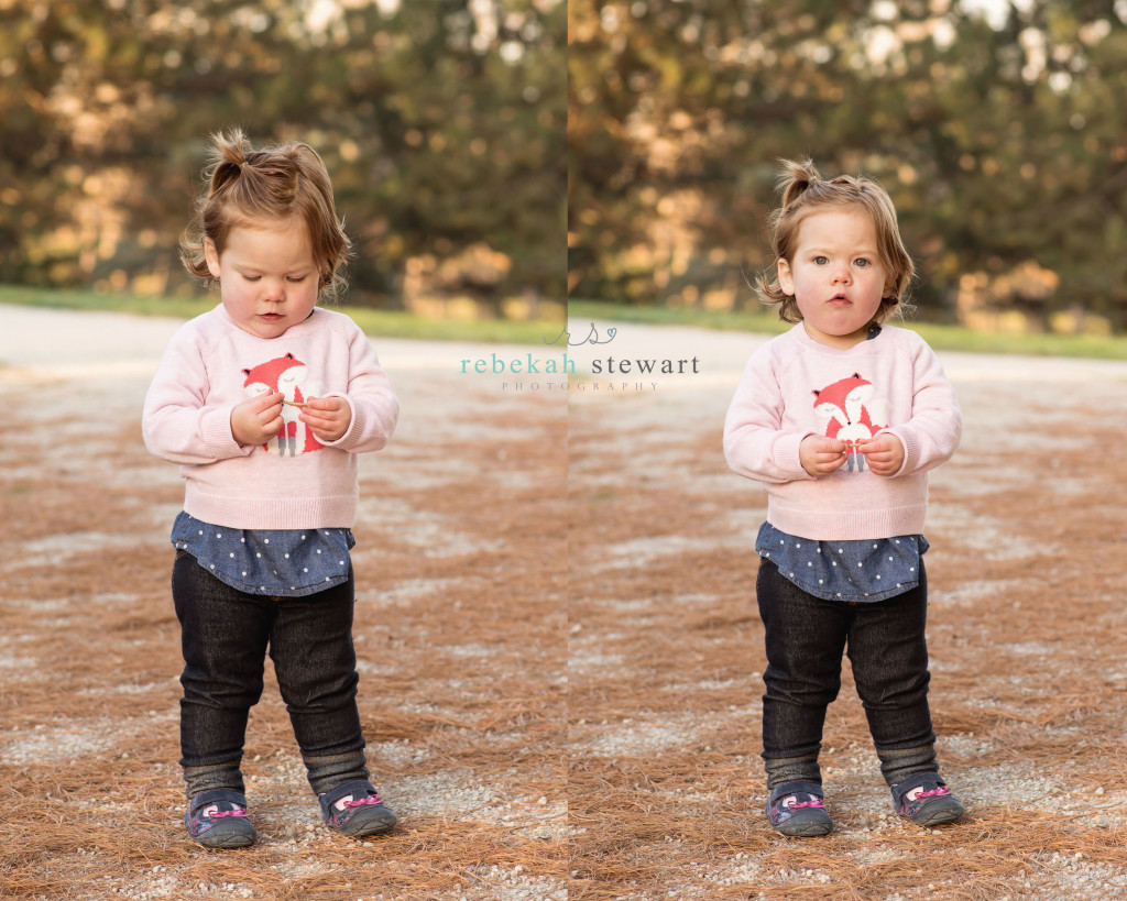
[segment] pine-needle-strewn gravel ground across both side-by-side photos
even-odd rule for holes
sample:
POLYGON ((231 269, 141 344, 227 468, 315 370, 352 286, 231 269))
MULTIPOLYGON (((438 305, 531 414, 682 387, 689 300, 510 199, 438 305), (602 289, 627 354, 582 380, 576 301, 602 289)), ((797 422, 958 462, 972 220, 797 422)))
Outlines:
POLYGON ((179 822, 181 490, 137 422, 163 337, 5 316, 0 896, 1127 895, 1124 366, 944 355, 966 434, 932 480, 932 704, 969 813, 891 815, 846 678, 824 753, 837 828, 796 841, 761 813, 763 494, 720 452, 756 339, 622 327, 616 353, 694 353, 701 374, 588 380, 569 405, 456 374, 473 348, 376 341, 405 412, 362 470, 356 634, 401 826, 357 844, 319 824, 268 685, 246 761, 260 841, 212 853, 179 822), (65 366, 36 357, 41 333, 65 366))

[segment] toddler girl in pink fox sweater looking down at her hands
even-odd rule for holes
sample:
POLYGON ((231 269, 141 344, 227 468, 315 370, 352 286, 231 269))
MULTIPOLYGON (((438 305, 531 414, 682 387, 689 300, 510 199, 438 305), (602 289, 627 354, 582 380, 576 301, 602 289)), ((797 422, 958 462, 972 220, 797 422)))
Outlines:
POLYGON ((185 266, 222 303, 169 342, 144 440, 180 464, 172 599, 181 626, 180 750, 188 833, 255 841, 239 762, 265 654, 320 797, 347 836, 396 823, 369 782, 352 623, 356 455, 379 450, 399 405, 375 351, 334 294, 348 239, 317 153, 214 139, 185 266))

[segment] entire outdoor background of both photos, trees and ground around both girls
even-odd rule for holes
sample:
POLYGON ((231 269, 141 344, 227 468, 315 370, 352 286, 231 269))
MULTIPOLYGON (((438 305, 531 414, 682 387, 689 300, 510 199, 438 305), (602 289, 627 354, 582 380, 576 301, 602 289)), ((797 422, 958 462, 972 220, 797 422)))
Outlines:
MULTIPOLYGON (((929 616, 969 822, 898 823, 849 704, 826 749, 841 828, 801 848, 757 813, 764 501, 720 441, 764 336, 630 322, 607 354, 701 359, 651 393, 459 372, 507 356, 471 325, 547 353, 565 297, 580 340, 595 309, 766 329, 748 282, 770 264, 775 158, 807 154, 889 188, 919 318, 969 327, 925 322, 932 346, 1033 330, 1085 351, 1127 325, 1125 18, 1050 0, 0 0, 0 302, 152 297, 174 316, 3 307, 20 428, 0 446, 17 526, 0 894, 1127 894, 1127 524, 1107 472, 1127 364, 944 350, 967 426, 932 483, 929 616), (137 411, 175 316, 214 302, 176 247, 207 134, 236 124, 326 158, 356 242, 347 300, 382 307, 349 313, 403 402, 362 464, 354 556, 362 715, 403 822, 371 851, 317 827, 273 686, 248 746, 259 846, 220 858, 180 824, 181 489, 137 411), (460 342, 393 337, 400 319, 428 338, 452 321, 460 342)), ((1127 357, 1122 337, 1102 347, 1127 357)))

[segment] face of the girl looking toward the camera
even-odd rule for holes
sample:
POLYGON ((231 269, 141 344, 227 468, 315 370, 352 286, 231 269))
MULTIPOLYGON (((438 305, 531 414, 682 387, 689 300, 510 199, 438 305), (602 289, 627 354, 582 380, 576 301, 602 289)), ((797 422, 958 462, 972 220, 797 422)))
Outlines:
POLYGON ((795 295, 815 341, 850 348, 866 339, 888 280, 878 247, 863 209, 811 213, 798 226, 792 258, 779 260, 779 285, 795 295))

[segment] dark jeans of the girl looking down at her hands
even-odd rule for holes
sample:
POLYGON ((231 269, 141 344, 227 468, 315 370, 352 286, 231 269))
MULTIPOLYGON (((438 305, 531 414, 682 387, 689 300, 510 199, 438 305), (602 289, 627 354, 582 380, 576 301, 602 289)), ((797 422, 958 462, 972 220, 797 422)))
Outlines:
MULTIPOLYGON (((357 758, 363 766, 350 570, 348 581, 326 591, 278 598, 231 588, 181 552, 172 568, 172 600, 184 651, 180 765, 186 776, 225 770, 238 777, 236 785, 213 778, 197 788, 241 791, 237 770, 250 707, 263 694, 267 649, 310 780, 311 761, 335 773, 344 761, 355 768, 357 758)), ((336 773, 331 780, 354 775, 336 773)), ((188 782, 192 794, 190 776, 188 782)))

